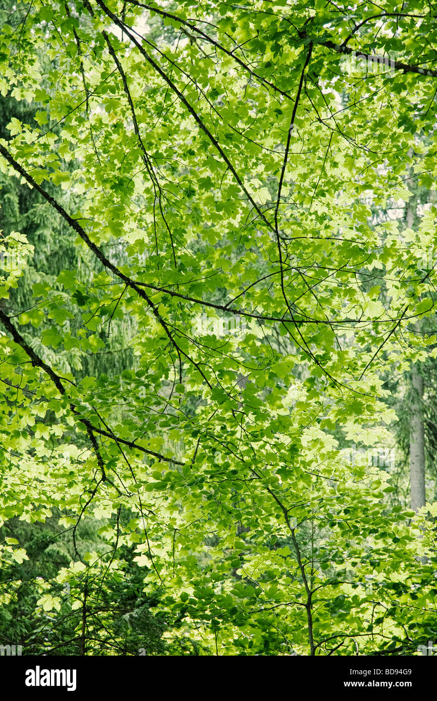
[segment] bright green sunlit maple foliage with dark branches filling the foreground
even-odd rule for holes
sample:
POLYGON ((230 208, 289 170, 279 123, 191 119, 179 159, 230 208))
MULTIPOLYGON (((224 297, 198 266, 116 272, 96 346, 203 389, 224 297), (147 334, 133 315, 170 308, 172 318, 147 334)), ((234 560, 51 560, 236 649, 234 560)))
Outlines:
MULTIPOLYGON (((347 451, 391 439, 386 365, 436 355, 414 330, 433 308, 417 248, 436 207, 417 231, 372 219, 410 199, 411 173, 434 186, 435 18, 415 1, 4 12, 0 89, 38 109, 11 118, 1 168, 94 263, 0 308, 0 515, 62 512, 74 562, 38 606, 59 611, 71 586, 83 654, 123 547, 176 646, 405 654, 433 637, 437 505, 391 505, 389 472, 347 451), (60 367, 126 319, 122 372, 60 367), (83 552, 86 517, 106 547, 83 552)), ((21 234, 5 247, 25 263, 21 234)), ((3 298, 17 286, 8 271, 3 298)))

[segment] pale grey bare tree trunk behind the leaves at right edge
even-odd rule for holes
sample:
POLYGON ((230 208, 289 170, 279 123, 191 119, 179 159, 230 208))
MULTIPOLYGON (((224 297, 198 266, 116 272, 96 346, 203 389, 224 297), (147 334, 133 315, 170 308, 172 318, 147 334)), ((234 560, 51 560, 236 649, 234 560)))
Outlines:
POLYGON ((411 508, 415 511, 425 505, 425 431, 422 400, 424 381, 417 363, 411 372, 411 424, 410 424, 410 485, 411 508))

